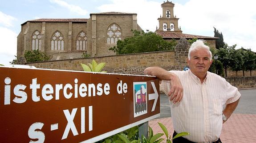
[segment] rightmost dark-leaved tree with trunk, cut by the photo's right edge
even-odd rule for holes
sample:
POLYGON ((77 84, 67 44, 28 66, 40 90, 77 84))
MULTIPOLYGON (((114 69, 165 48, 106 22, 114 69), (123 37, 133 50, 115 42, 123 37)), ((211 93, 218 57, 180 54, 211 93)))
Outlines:
POLYGON ((246 59, 244 59, 245 70, 250 70, 250 76, 252 76, 252 70, 256 70, 256 54, 251 49, 247 49, 246 59))

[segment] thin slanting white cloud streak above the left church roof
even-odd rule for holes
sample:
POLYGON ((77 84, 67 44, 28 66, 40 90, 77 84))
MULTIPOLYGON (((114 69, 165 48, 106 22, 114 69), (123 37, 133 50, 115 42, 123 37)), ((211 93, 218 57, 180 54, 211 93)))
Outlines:
POLYGON ((68 8, 70 12, 77 13, 79 15, 87 15, 87 11, 80 8, 79 6, 68 4, 63 0, 50 0, 51 3, 60 5, 61 7, 68 8))

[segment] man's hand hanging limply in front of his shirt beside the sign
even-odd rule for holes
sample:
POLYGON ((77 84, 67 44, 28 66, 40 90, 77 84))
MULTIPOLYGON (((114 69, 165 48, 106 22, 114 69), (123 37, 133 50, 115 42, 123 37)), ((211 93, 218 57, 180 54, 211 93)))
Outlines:
POLYGON ((182 99, 183 97, 183 87, 181 85, 181 82, 179 80, 179 77, 177 75, 173 75, 171 77, 171 90, 168 93, 169 99, 172 101, 173 103, 179 103, 179 101, 182 99))

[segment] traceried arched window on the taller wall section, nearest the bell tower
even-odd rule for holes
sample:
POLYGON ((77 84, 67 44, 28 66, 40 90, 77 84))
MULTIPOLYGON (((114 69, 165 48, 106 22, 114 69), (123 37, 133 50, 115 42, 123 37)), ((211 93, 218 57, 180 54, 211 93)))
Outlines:
POLYGON ((107 30, 107 43, 108 44, 115 44, 118 42, 118 40, 121 40, 122 32, 121 28, 113 23, 108 27, 107 30))

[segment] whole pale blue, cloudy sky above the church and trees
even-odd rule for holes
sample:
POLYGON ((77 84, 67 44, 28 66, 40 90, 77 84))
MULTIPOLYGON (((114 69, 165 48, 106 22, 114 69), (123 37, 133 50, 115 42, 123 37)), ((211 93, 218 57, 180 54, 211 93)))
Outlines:
MULTIPOLYGON (((166 1, 166 0, 165 0, 166 1)), ((169 0, 170 1, 170 0, 169 0)), ((173 0, 174 15, 185 34, 214 37, 256 52, 255 0, 173 0)), ((16 55, 20 24, 40 18, 89 18, 96 12, 137 13, 138 25, 155 31, 163 0, 0 0, 0 64, 16 55)))

